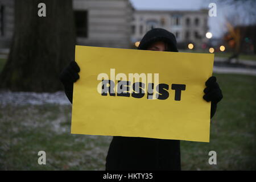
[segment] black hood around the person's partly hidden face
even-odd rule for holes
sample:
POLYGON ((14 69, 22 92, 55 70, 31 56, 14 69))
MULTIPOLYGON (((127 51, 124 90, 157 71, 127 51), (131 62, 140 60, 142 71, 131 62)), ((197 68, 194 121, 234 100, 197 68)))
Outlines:
POLYGON ((168 44, 168 50, 170 52, 178 52, 177 50, 177 42, 174 34, 171 32, 164 30, 163 28, 152 28, 148 31, 142 38, 138 49, 146 50, 151 43, 160 41, 166 42, 168 44))

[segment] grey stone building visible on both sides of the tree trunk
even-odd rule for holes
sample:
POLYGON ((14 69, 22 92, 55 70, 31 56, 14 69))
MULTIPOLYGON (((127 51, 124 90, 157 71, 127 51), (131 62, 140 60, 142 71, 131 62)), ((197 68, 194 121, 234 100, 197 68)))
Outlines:
MULTIPOLYGON (((46 5, 47 9, 47 5, 46 5)), ((77 44, 130 48, 133 6, 129 0, 73 0, 77 44)), ((14 0, 0 1, 0 49, 14 32, 14 0)))

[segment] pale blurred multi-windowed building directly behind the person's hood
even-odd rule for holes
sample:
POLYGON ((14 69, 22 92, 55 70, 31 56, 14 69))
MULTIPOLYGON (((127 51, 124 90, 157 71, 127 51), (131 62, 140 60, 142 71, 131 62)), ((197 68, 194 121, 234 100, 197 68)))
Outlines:
POLYGON ((194 44, 196 49, 204 48, 208 42, 205 37, 209 29, 208 10, 137 10, 131 26, 133 42, 140 41, 151 28, 164 28, 172 32, 176 36, 178 47, 182 49, 187 49, 189 43, 194 44))

